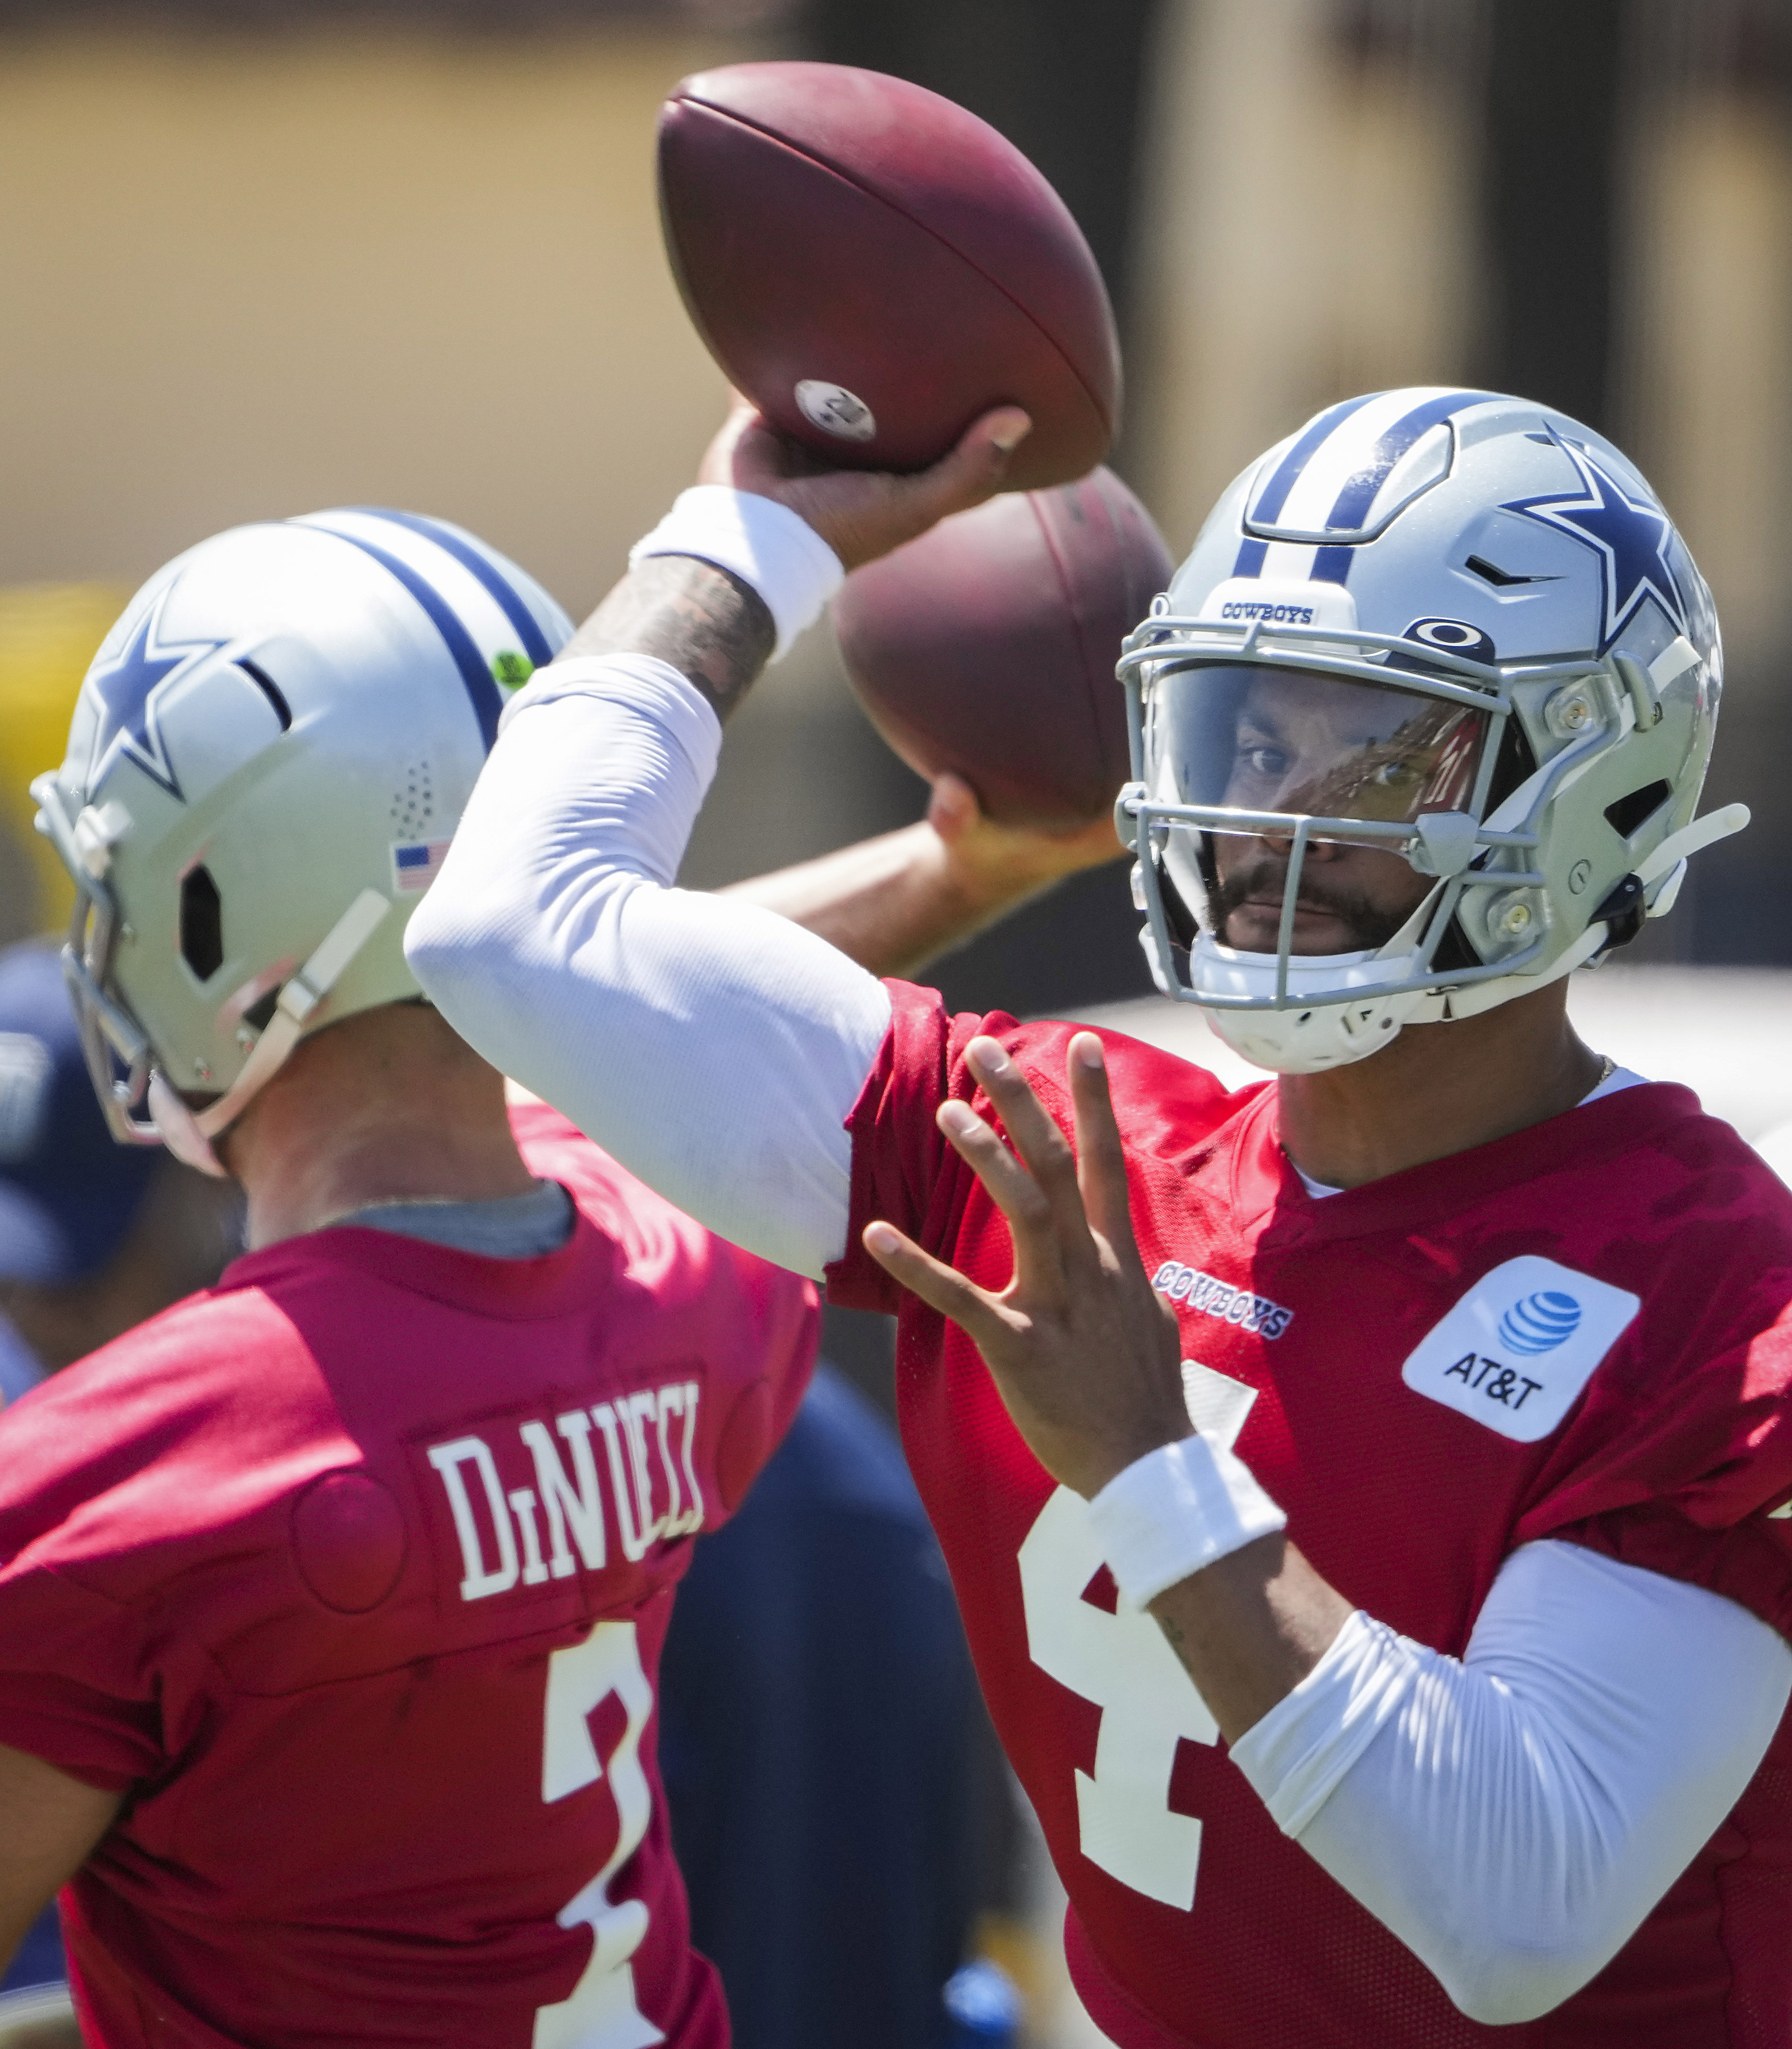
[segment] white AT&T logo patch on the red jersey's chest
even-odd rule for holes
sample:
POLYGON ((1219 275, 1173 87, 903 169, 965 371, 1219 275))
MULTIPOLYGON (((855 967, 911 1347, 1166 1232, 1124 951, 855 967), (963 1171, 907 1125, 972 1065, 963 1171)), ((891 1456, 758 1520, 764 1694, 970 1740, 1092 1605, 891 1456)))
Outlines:
POLYGON ((1640 1301, 1526 1254, 1485 1274, 1401 1369, 1413 1393, 1520 1445, 1548 1436, 1640 1301))

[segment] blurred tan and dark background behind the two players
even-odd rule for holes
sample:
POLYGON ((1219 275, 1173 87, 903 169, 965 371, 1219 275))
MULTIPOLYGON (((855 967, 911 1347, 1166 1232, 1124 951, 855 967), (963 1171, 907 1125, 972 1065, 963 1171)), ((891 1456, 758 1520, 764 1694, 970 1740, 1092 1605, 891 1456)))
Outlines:
MULTIPOLYGON (((1792 1117, 1786 0, 0 0, 0 945, 63 916, 25 783, 180 547, 381 502, 473 527, 573 615, 604 592, 723 404, 659 250, 655 111, 766 55, 909 76, 1053 178, 1120 311, 1116 467, 1178 555, 1358 389, 1516 389, 1638 459, 1724 621, 1708 801, 1755 824, 1585 1014, 1749 1135, 1792 1117)), ((817 627, 731 727, 686 879, 922 797, 817 627)), ((1110 869, 938 979, 1122 1004, 1133 932, 1110 869)), ((1186 1014, 1108 1014, 1198 1049, 1186 1014)), ((836 1318, 829 1346, 887 1395, 883 1330, 836 1318)), ((997 1813, 985 1840, 991 1942, 1049 1930, 1024 1834, 997 1813)), ((1073 2039, 1049 1936, 1004 1955, 1034 2039, 1073 2039)))

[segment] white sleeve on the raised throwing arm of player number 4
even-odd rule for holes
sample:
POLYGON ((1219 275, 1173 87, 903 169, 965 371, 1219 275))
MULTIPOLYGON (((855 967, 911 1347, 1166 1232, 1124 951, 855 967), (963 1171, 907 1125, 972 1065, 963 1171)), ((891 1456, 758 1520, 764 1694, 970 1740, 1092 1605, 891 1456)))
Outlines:
POLYGON ((666 662, 555 662, 506 711, 406 932, 494 1068, 723 1238, 819 1277, 883 984, 801 926, 674 889, 721 727, 666 662))

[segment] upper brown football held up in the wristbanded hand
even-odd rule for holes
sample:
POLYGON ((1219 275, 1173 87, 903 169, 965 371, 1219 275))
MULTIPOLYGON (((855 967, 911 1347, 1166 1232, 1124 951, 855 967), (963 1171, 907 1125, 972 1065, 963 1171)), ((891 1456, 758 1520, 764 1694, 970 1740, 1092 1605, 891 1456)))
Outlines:
POLYGON ((1120 350, 1069 209, 952 100, 844 64, 731 64, 659 115, 659 219, 729 383, 838 467, 924 469, 991 406, 1010 490, 1114 441, 1120 350))

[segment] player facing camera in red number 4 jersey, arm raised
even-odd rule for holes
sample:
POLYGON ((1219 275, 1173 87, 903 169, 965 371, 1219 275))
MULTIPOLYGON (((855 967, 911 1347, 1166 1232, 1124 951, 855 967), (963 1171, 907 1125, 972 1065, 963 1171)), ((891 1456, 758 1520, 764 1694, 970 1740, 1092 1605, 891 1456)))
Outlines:
POLYGON ((705 475, 512 713, 412 959, 672 1199, 899 1309, 1096 2020, 1784 2049, 1792 1201, 1565 1002, 1743 824, 1694 816, 1716 619, 1645 479, 1417 389, 1225 494, 1122 662, 1120 816, 1161 988, 1276 1076, 1229 1096, 672 887, 754 666, 719 572, 776 619, 918 488, 750 416, 705 475))

